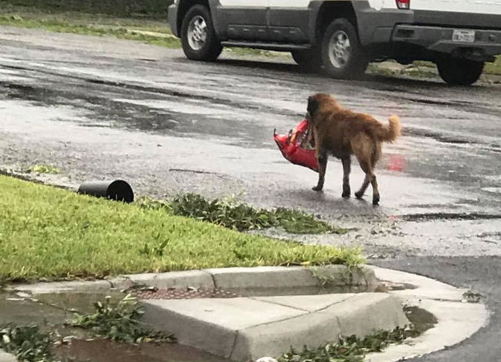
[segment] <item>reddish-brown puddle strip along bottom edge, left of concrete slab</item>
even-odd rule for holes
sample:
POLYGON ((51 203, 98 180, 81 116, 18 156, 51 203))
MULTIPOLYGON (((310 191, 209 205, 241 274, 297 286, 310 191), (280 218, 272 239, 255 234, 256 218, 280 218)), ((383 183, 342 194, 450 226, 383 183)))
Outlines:
POLYGON ((225 362, 212 354, 176 344, 125 345, 110 340, 73 340, 54 349, 63 359, 92 362, 225 362))

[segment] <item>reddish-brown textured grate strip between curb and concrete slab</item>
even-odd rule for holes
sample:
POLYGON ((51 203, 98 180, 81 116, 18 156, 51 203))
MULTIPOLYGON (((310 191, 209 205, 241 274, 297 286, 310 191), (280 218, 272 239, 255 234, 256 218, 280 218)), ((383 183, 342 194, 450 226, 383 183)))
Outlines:
POLYGON ((238 298, 241 295, 222 289, 157 289, 145 288, 132 292, 141 299, 200 299, 200 298, 238 298))

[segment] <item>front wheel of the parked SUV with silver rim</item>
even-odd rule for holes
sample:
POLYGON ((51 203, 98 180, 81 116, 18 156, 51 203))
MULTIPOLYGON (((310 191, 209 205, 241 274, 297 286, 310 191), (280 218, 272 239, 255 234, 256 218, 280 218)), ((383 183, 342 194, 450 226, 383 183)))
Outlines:
POLYGON ((193 61, 215 61, 223 51, 207 6, 192 6, 181 26, 182 49, 193 61))

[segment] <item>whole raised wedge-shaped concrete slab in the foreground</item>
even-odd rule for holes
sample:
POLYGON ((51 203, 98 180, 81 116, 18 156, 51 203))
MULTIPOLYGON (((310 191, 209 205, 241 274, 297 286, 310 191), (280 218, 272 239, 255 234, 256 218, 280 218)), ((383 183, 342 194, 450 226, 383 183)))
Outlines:
POLYGON ((235 361, 317 347, 340 333, 365 336, 408 324, 385 293, 144 301, 145 322, 180 343, 235 361), (354 301, 353 301, 354 299, 354 301), (356 326, 360 325, 360 328, 356 326))

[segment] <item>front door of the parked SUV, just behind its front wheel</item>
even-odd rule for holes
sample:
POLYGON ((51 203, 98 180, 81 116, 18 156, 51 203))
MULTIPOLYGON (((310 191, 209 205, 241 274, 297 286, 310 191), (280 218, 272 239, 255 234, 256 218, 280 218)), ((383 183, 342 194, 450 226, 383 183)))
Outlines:
POLYGON ((218 0, 216 26, 223 40, 267 38, 268 0, 218 0))

